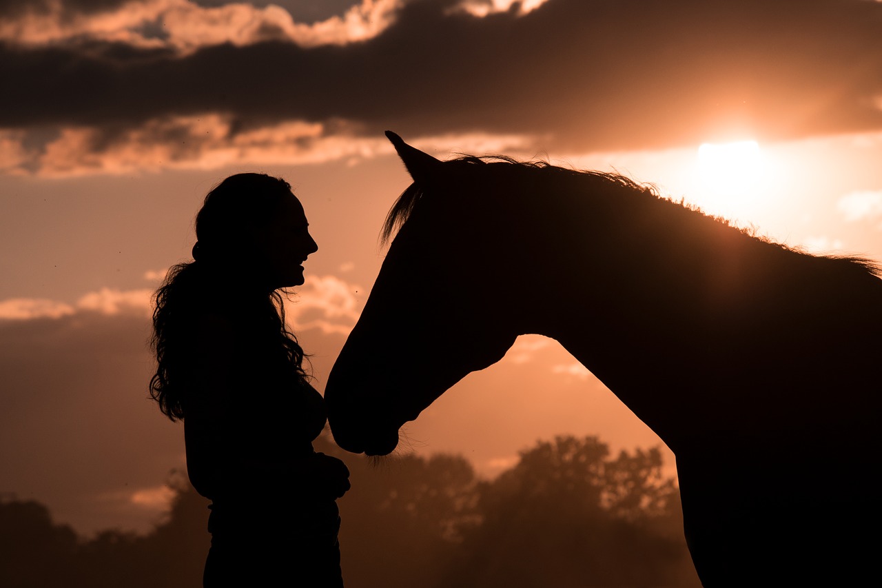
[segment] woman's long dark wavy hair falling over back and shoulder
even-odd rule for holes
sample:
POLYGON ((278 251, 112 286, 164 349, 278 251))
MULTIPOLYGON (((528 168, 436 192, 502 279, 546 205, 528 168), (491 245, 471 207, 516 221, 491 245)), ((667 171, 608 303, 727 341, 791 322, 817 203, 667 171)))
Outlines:
POLYGON ((254 239, 272 218, 291 186, 280 177, 236 174, 208 192, 196 217, 197 243, 193 261, 168 270, 153 295, 153 335, 156 373, 150 380, 150 396, 171 420, 184 418, 186 389, 183 377, 191 366, 193 329, 198 313, 221 313, 231 319, 257 319, 301 381, 303 349, 285 324, 285 307, 278 290, 266 291, 249 282, 249 272, 260 260, 253 257, 254 239), (232 276, 235 284, 225 280, 232 276), (235 304, 223 304, 224 290, 235 290, 235 304), (275 336, 273 336, 275 335, 275 336))

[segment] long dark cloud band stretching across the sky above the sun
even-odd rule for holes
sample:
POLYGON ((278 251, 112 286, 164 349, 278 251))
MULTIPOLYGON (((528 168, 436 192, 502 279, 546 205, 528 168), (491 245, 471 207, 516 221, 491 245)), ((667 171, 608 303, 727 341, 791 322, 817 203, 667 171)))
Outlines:
POLYGON ((549 0, 526 16, 411 2, 370 41, 0 49, 0 126, 137 124, 222 111, 243 127, 536 133, 557 148, 882 128, 882 4, 549 0))

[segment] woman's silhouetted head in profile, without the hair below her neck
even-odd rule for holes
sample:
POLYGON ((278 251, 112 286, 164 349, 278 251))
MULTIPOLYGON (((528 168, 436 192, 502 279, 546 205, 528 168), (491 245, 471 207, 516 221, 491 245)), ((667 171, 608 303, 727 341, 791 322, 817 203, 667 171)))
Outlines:
POLYGON ((302 284, 301 264, 318 250, 291 186, 265 174, 236 174, 208 192, 196 237, 200 265, 267 290, 302 284))

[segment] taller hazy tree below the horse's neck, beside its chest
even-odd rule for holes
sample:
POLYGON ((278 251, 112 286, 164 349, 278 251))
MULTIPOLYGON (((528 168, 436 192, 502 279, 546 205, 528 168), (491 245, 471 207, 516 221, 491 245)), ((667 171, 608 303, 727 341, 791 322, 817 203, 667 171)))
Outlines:
POLYGON ((699 585, 657 449, 609 459, 596 437, 541 441, 479 494, 482 524, 467 533, 448 582, 699 585))

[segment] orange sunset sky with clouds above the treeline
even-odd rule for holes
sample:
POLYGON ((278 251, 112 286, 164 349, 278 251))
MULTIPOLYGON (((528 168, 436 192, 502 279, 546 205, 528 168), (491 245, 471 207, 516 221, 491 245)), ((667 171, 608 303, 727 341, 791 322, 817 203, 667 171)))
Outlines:
MULTIPOLYGON (((878 0, 5 0, 0 79, 0 494, 82 532, 146 530, 183 468, 147 398, 150 295, 229 174, 303 201, 319 251, 288 312, 319 389, 409 183, 385 129, 882 260, 878 0)), ((558 433, 661 443, 539 336, 407 428, 486 476, 558 433)))

